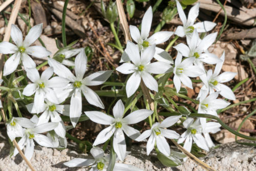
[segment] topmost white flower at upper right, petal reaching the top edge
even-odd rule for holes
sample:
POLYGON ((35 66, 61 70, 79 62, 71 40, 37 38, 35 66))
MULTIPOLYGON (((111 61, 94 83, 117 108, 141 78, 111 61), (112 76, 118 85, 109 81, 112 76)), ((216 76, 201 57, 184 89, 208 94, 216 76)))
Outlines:
POLYGON ((216 23, 208 22, 208 21, 194 24, 199 14, 200 3, 197 3, 194 7, 192 7, 189 10, 188 17, 186 17, 179 1, 176 0, 176 4, 177 4, 177 10, 178 10, 181 22, 183 23, 183 26, 178 26, 174 34, 180 37, 183 37, 185 35, 189 37, 191 36, 191 33, 193 33, 194 30, 196 30, 199 33, 208 32, 216 26, 216 23))

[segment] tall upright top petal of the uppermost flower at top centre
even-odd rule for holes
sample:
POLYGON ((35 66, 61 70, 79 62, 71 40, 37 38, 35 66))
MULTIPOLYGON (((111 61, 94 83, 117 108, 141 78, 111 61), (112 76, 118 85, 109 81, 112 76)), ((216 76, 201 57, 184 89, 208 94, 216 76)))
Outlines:
POLYGON ((142 18, 141 23, 141 38, 145 39, 148 37, 148 34, 150 34, 150 28, 152 24, 152 18, 153 18, 153 12, 152 8, 148 8, 142 18))

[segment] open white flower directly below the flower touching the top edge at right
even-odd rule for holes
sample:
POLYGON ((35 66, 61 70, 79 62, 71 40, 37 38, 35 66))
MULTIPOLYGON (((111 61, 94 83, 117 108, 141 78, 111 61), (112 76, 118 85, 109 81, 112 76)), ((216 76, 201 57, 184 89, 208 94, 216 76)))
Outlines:
POLYGON ((205 36, 202 40, 199 38, 198 32, 194 31, 191 39, 187 39, 187 45, 181 43, 174 48, 179 51, 182 56, 193 58, 194 64, 204 69, 203 63, 215 64, 221 62, 215 54, 208 53, 207 49, 211 46, 217 36, 216 33, 211 33, 205 36))

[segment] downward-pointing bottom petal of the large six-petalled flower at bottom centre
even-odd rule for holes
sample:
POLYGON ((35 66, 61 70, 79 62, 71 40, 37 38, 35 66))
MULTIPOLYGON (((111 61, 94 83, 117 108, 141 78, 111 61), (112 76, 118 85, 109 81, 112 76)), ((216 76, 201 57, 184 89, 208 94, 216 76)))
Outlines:
POLYGON ((117 154, 117 157, 121 161, 123 161, 126 153, 126 144, 125 144, 124 134, 121 129, 118 129, 114 134, 113 147, 114 147, 114 151, 117 154))

